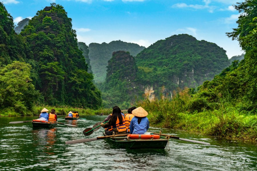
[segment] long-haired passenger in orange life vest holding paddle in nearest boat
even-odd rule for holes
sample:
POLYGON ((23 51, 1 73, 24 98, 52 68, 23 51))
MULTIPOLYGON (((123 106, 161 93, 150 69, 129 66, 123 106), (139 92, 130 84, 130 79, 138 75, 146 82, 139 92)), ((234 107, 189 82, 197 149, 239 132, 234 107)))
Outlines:
POLYGON ((107 123, 101 123, 101 126, 105 128, 105 133, 107 135, 112 135, 113 131, 116 135, 127 133, 121 109, 118 106, 113 107, 113 113, 110 115, 111 117, 107 123))

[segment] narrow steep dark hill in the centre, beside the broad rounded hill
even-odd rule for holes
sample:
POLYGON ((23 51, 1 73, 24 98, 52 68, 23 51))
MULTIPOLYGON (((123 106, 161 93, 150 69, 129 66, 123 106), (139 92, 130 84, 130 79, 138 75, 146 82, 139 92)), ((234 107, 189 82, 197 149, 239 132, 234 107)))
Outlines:
POLYGON ((133 104, 135 96, 138 95, 134 82, 137 70, 135 59, 129 52, 113 52, 101 89, 104 107, 119 105, 122 109, 127 109, 133 104))

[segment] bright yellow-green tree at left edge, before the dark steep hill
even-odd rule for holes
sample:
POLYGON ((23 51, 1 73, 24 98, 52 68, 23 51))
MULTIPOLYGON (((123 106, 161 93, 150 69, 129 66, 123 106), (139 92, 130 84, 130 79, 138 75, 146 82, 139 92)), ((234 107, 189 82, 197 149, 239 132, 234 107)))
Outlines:
POLYGON ((14 61, 0 69, 0 109, 5 112, 16 112, 21 115, 31 110, 34 102, 40 97, 31 83, 31 66, 24 62, 14 61))

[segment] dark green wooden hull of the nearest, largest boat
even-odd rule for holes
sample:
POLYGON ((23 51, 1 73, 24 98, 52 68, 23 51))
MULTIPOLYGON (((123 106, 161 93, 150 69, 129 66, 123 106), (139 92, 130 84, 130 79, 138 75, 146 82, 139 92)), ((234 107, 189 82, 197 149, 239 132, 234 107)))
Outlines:
MULTIPOLYGON (((105 131, 103 132, 104 136, 105 131)), ((166 137, 161 136, 160 139, 127 139, 127 137, 110 137, 105 140, 118 148, 126 149, 164 149, 168 143, 166 137)))

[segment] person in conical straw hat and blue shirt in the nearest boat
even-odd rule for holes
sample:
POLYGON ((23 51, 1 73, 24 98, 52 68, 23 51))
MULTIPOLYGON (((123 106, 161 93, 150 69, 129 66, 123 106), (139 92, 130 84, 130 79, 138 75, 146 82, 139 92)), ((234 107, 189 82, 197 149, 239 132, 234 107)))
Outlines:
POLYGON ((131 119, 129 129, 130 134, 144 134, 149 128, 148 115, 141 106, 132 111, 134 117, 131 119))

